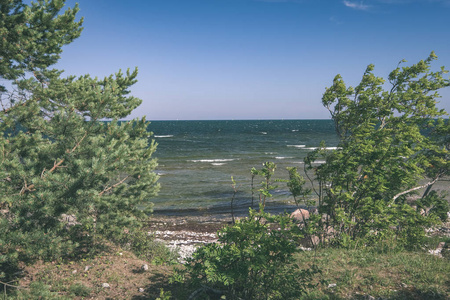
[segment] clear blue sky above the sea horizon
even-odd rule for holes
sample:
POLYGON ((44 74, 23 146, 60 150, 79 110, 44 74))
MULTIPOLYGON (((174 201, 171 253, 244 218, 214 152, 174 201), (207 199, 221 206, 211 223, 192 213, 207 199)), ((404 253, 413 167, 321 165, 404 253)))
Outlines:
MULTIPOLYGON (((434 50, 450 68, 450 0, 68 0, 85 18, 64 48, 66 75, 139 68, 130 118, 322 119, 336 74, 356 85, 370 63, 434 50)), ((450 112, 450 88, 440 107, 450 112)))

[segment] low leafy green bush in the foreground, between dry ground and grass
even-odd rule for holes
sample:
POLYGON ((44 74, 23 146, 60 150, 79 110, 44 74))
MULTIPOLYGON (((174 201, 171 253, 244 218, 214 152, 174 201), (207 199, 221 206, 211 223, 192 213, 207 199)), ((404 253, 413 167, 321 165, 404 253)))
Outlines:
POLYGON ((250 209, 249 217, 218 235, 218 243, 197 249, 185 265, 194 286, 208 286, 230 299, 298 299, 312 287, 318 270, 294 264, 302 236, 288 216, 250 209))

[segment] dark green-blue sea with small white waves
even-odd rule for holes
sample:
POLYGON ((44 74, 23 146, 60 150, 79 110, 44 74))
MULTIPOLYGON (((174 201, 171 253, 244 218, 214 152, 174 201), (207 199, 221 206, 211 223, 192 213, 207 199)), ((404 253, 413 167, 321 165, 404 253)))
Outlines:
MULTIPOLYGON (((158 143, 153 156, 161 185, 151 199, 154 214, 176 216, 228 214, 233 198, 236 215, 257 208, 251 169, 261 169, 264 162, 274 162, 273 179, 281 179, 274 180, 277 187, 266 211, 293 211, 294 199, 282 182, 288 178, 286 168, 297 167, 305 175, 308 152, 322 141, 330 148, 338 144, 331 120, 152 121, 149 131, 158 143)), ((261 181, 256 178, 254 188, 261 181)))

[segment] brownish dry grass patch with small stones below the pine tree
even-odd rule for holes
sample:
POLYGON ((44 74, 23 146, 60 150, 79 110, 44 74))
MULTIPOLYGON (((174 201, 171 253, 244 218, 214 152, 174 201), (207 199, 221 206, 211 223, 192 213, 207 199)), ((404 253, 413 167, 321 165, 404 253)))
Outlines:
POLYGON ((39 281, 69 299, 155 299, 171 273, 170 266, 152 265, 116 248, 91 259, 27 266, 19 285, 26 288, 39 281), (141 269, 144 264, 147 271, 141 269), (103 283, 110 287, 102 287, 103 283))

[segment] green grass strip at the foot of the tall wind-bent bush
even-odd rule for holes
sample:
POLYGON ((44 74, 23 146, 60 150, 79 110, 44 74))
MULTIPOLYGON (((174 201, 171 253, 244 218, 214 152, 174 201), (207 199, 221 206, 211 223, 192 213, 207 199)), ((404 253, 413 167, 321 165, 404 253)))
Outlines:
POLYGON ((450 260, 425 252, 380 253, 371 249, 321 249, 297 256, 316 263, 322 280, 305 299, 449 299, 450 260), (312 297, 312 298, 311 298, 312 297))

